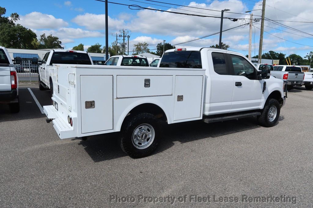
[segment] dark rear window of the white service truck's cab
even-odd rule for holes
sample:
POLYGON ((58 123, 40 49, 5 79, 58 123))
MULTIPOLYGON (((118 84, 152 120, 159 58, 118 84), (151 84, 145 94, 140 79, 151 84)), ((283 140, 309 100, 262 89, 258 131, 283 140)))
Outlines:
POLYGON ((200 51, 172 51, 164 53, 160 67, 202 69, 200 51))

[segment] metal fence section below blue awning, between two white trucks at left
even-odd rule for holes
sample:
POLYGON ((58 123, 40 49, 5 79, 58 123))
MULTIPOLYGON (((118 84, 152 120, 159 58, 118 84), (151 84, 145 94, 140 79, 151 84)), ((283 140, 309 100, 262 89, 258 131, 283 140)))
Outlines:
POLYGON ((30 61, 15 64, 18 72, 19 82, 38 82, 38 64, 32 64, 30 61))

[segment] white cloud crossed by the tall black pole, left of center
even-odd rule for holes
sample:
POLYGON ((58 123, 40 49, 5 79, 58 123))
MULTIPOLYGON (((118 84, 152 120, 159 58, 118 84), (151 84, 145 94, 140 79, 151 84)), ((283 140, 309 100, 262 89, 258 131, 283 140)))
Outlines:
MULTIPOLYGON (((80 26, 86 27, 88 30, 104 30, 105 29, 105 15, 104 14, 91 14, 85 13, 83 15, 77 15, 72 22, 80 26)), ((124 20, 113 19, 108 17, 109 29, 120 30, 125 26, 124 20)))

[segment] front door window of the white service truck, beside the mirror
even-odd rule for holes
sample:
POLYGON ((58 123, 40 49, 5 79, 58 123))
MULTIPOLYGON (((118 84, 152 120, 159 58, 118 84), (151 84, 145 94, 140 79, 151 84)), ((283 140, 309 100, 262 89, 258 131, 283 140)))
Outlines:
POLYGON ((234 75, 245 76, 248 79, 257 79, 254 67, 244 57, 232 54, 229 56, 233 63, 234 75))

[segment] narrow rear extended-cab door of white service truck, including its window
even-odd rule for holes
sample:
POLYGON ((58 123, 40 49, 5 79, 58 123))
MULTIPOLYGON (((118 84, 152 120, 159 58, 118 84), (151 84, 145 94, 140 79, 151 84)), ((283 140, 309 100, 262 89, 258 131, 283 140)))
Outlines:
POLYGON ((230 111, 234 86, 233 76, 226 60, 226 53, 208 51, 210 74, 207 78, 206 89, 207 94, 211 92, 211 97, 206 100, 210 100, 210 115, 230 111))

